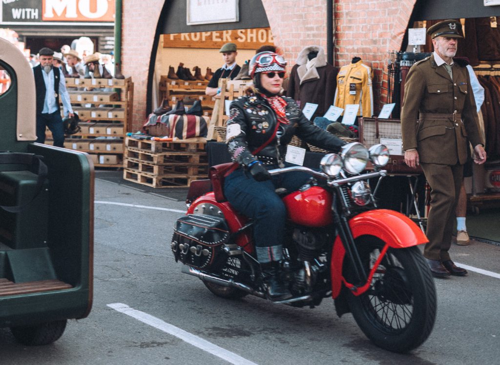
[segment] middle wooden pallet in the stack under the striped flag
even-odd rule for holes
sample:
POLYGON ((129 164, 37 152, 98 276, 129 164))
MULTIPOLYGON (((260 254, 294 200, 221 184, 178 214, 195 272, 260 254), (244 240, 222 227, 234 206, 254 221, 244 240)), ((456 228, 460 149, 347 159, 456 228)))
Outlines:
POLYGON ((186 176, 208 175, 208 166, 206 163, 172 162, 168 164, 154 164, 126 158, 123 161, 123 167, 136 172, 145 172, 156 176, 170 173, 179 173, 186 176))

